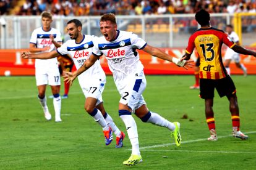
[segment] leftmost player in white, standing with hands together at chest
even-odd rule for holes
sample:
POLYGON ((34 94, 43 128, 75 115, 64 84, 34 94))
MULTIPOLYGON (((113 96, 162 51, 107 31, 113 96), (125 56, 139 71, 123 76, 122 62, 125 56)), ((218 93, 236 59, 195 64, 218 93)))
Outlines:
MULTIPOLYGON (((42 26, 33 31, 30 38, 30 52, 47 52, 53 51, 55 49, 54 44, 49 38, 50 34, 53 34, 54 40, 62 43, 61 33, 55 28, 51 28, 51 23, 53 22, 52 15, 49 12, 43 12, 41 14, 42 26)), ((38 99, 40 100, 41 106, 45 113, 45 118, 47 120, 51 119, 51 114, 49 113, 48 106, 46 103, 46 85, 51 86, 51 91, 53 93, 53 105, 55 111, 55 121, 61 121, 61 97, 59 96, 59 89, 61 85, 61 78, 59 75, 58 61, 57 59, 48 60, 35 60, 35 77, 36 86, 38 87, 38 99)))

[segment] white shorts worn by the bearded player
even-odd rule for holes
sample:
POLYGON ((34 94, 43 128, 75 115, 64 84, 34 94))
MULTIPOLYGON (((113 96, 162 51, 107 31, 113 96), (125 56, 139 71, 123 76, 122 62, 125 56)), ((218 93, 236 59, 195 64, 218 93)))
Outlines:
POLYGON ((101 102, 103 102, 102 99, 102 93, 105 88, 106 81, 95 81, 90 82, 87 84, 87 86, 80 86, 82 87, 83 94, 85 95, 85 98, 92 97, 97 99, 96 105, 99 105, 101 102))

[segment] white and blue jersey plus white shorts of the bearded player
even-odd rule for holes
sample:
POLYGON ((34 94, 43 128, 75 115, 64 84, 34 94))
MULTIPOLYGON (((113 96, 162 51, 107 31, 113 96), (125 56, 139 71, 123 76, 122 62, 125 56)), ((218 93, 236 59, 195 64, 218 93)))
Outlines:
MULTIPOLYGON (((74 39, 69 39, 57 49, 61 55, 69 55, 75 67, 79 69, 92 54, 96 36, 83 35, 81 42, 77 43, 74 39)), ((97 60, 92 67, 78 76, 80 87, 85 97, 93 97, 102 102, 101 94, 105 87, 106 75, 101 68, 100 61, 97 60), (95 89, 96 88, 96 89, 95 89)))

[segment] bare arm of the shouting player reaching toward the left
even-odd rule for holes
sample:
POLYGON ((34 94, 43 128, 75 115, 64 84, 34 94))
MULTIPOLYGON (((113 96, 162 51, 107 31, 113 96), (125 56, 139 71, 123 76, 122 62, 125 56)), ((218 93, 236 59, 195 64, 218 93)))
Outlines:
POLYGON ((84 71, 88 70, 88 68, 92 67, 92 65, 98 60, 99 57, 96 55, 90 55, 89 59, 85 60, 83 65, 74 72, 69 72, 69 71, 63 71, 64 75, 63 77, 65 78, 64 81, 67 81, 67 83, 70 82, 70 85, 72 85, 72 82, 79 76, 81 73, 84 71))

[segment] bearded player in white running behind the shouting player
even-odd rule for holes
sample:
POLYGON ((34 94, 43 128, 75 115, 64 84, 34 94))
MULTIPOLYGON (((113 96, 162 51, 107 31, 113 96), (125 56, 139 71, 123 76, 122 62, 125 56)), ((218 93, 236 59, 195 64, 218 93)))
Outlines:
MULTIPOLYGON (((44 54, 23 53, 22 57, 24 59, 53 59, 59 55, 68 55, 74 61, 75 67, 79 69, 92 54, 93 43, 97 37, 82 34, 82 23, 77 19, 67 22, 67 31, 70 40, 62 44, 62 46, 53 41, 55 46, 58 47, 56 51, 44 54)), ((83 94, 86 97, 85 110, 103 128, 105 144, 109 145, 112 142, 113 131, 116 134, 116 148, 122 147, 122 140, 125 134, 114 124, 113 119, 106 113, 103 106, 102 92, 106 83, 106 75, 101 68, 100 61, 97 60, 95 65, 79 75, 78 79, 83 94)))

